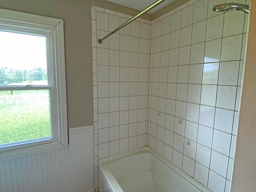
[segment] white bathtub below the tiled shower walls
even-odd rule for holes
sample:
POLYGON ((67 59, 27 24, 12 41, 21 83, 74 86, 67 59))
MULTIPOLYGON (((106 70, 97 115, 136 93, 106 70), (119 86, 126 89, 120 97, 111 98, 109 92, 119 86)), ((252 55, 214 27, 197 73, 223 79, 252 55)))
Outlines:
POLYGON ((99 192, 210 192, 148 147, 99 160, 99 192))

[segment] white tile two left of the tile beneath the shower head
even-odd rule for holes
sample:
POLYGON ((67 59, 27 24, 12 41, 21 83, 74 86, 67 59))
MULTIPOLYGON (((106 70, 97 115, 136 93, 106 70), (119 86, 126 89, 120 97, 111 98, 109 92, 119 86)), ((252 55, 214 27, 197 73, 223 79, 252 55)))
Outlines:
POLYGON ((192 44, 205 41, 206 20, 193 24, 192 44))

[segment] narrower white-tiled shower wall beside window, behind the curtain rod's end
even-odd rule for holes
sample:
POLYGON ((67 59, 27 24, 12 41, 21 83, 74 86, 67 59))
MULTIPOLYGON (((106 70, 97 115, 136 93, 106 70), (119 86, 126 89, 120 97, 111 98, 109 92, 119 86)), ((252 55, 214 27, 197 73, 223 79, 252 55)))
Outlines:
POLYGON ((97 43, 130 18, 92 6, 96 189, 98 159, 147 143, 151 22, 138 19, 97 43))

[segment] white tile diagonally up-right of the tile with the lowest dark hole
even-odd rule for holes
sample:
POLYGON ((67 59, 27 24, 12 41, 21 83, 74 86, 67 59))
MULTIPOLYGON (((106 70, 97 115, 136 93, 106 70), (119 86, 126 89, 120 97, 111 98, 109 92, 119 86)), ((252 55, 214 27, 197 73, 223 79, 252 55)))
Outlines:
POLYGON ((206 147, 211 148, 212 147, 212 135, 213 135, 213 129, 199 125, 198 126, 198 138, 197 142, 199 144, 202 144, 206 147))

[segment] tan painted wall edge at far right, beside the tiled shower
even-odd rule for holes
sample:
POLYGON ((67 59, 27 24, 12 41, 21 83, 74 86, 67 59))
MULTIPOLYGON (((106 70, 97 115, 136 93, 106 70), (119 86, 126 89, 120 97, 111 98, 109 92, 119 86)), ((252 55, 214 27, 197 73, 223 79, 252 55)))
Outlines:
POLYGON ((256 2, 251 1, 232 192, 256 191, 256 2))

